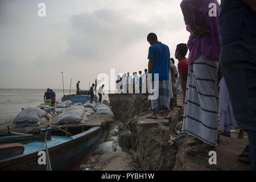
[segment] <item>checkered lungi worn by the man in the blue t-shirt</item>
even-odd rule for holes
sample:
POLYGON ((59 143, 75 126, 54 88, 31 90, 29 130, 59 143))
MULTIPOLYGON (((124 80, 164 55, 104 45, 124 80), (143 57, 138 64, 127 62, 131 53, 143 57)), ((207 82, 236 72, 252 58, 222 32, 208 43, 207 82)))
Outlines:
MULTIPOLYGON (((153 82, 154 83, 154 82, 153 82)), ((154 84, 152 85, 154 88, 154 84)), ((170 86, 168 80, 159 80, 158 98, 151 100, 152 109, 158 109, 159 106, 163 105, 169 109, 170 107, 170 86)), ((153 93, 155 94, 155 93, 153 93)))

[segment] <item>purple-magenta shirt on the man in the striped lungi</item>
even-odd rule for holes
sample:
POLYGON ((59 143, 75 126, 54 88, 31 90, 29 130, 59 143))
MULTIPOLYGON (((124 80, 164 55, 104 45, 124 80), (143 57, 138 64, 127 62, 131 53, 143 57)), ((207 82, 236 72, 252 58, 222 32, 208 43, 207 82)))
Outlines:
POLYGON ((218 33, 218 17, 220 5, 216 0, 183 0, 180 4, 187 31, 191 33, 188 40, 188 64, 193 63, 199 56, 205 55, 209 60, 218 61, 220 55, 220 34, 218 33), (216 4, 217 16, 209 16, 210 3, 216 4), (210 31, 209 34, 197 39, 193 37, 189 23, 196 23, 210 31))

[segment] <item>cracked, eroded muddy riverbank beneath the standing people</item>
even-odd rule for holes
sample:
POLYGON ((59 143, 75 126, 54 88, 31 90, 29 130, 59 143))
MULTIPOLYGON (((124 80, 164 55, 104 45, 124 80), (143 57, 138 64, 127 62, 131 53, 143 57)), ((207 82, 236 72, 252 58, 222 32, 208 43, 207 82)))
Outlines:
POLYGON ((186 151, 189 148, 187 143, 195 138, 187 137, 180 141, 174 139, 180 134, 182 126, 183 109, 180 94, 178 96, 178 107, 171 111, 172 118, 169 120, 161 116, 158 116, 158 119, 148 119, 150 104, 143 96, 129 96, 127 94, 122 96, 122 100, 120 98, 120 94, 110 96, 110 105, 113 106, 114 114, 118 115, 115 118, 119 120, 114 119, 114 122, 109 123, 96 146, 103 143, 106 138, 112 137, 108 134, 111 129, 118 127, 118 135, 120 135, 127 122, 133 119, 119 139, 122 152, 94 156, 90 154, 71 170, 81 170, 80 166, 82 164, 82 169, 87 168, 90 171, 250 170, 250 164, 238 160, 238 155, 241 154, 243 148, 249 142, 246 133, 245 139, 237 139, 237 130, 233 130, 232 137, 221 136, 221 142, 216 147, 216 165, 210 165, 207 156, 187 155, 186 151), (129 115, 127 111, 133 114, 129 115), (120 115, 122 113, 123 115, 120 115))

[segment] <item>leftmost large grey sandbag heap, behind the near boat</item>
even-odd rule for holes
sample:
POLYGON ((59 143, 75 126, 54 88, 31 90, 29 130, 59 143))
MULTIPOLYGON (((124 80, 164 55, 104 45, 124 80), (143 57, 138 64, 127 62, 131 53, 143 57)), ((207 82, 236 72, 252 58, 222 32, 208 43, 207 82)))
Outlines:
POLYGON ((48 122, 48 113, 45 110, 28 107, 23 109, 13 121, 13 128, 26 126, 40 126, 40 124, 48 122))

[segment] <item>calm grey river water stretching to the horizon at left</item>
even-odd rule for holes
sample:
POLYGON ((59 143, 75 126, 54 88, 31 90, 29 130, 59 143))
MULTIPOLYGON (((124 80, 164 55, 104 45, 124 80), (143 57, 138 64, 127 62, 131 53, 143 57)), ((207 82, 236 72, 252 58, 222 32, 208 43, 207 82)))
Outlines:
MULTIPOLYGON (((61 102, 63 90, 53 90, 56 101, 61 102)), ((44 102, 45 89, 0 89, 0 123, 13 120, 22 108, 36 107, 44 102)), ((64 90, 69 94, 69 90, 64 90)), ((71 90, 75 94, 76 90, 71 90)), ((102 100, 108 100, 107 94, 102 100)))

